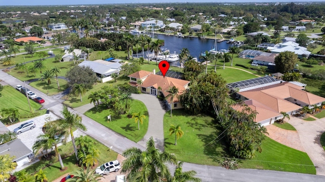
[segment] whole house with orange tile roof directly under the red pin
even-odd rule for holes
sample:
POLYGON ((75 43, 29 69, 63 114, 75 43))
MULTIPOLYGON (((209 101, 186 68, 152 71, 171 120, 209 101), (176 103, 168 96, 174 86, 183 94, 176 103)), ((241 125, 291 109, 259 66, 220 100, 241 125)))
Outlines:
MULTIPOLYGON (((163 77, 161 75, 155 74, 155 69, 153 72, 140 70, 128 76, 130 79, 129 84, 135 87, 140 87, 142 93, 147 93, 151 95, 163 95, 167 97, 169 94, 167 90, 173 86, 178 88, 178 94, 180 95, 182 91, 185 91, 188 88, 189 81, 180 80, 171 77, 163 77), (142 84, 139 85, 138 81, 141 80, 142 84), (161 90, 160 90, 161 88, 161 90)), ((171 98, 167 99, 167 102, 171 103, 171 98)), ((179 102, 179 98, 175 97, 173 109, 182 108, 182 105, 179 102)))

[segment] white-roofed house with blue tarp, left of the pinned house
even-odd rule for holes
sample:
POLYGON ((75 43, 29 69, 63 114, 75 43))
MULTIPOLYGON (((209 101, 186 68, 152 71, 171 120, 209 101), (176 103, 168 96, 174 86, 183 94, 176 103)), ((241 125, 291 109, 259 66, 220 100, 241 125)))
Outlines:
MULTIPOLYGON (((116 59, 114 59, 116 60, 116 59)), ((94 60, 94 61, 82 61, 79 66, 89 66, 93 72, 98 77, 102 83, 112 80, 111 75, 113 73, 119 74, 122 64, 118 61, 104 61, 104 60, 94 60)))

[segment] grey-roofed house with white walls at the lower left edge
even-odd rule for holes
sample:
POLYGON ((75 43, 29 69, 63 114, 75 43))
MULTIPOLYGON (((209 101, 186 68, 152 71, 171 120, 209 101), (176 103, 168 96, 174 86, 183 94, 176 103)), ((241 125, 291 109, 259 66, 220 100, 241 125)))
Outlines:
MULTIPOLYGON (((9 132, 9 129, 2 122, 0 122, 0 134, 4 134, 6 132, 9 132)), ((17 138, 1 144, 0 154, 9 154, 10 157, 14 156, 12 162, 16 162, 17 166, 22 166, 30 162, 28 156, 31 155, 32 152, 20 139, 17 138)))

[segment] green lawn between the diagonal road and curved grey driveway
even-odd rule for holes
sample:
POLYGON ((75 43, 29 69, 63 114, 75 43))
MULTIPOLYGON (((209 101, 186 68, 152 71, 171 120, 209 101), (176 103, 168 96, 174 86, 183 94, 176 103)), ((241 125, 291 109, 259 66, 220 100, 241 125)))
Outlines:
POLYGON ((131 113, 142 112, 146 116, 143 124, 140 123, 140 130, 138 130, 138 123, 132 118, 127 118, 127 114, 115 115, 107 107, 100 105, 98 111, 95 107, 85 113, 86 116, 95 120, 96 122, 110 128, 111 130, 125 136, 126 138, 138 142, 147 133, 148 130, 148 110, 145 104, 139 100, 133 100, 131 104, 131 113), (111 122, 107 121, 107 116, 111 115, 111 122))

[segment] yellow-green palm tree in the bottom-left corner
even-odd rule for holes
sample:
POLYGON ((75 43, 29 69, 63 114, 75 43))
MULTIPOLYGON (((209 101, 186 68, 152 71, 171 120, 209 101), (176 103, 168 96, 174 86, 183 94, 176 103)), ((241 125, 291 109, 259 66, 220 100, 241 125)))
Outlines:
POLYGON ((0 155, 0 181, 7 181, 10 177, 10 173, 17 166, 16 162, 12 162, 15 156, 10 157, 9 154, 0 155))

